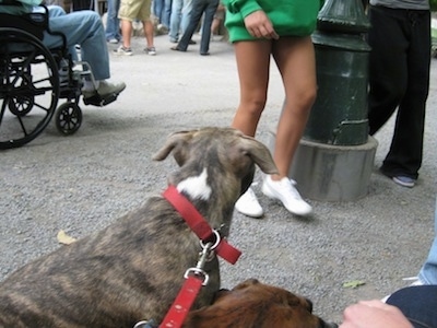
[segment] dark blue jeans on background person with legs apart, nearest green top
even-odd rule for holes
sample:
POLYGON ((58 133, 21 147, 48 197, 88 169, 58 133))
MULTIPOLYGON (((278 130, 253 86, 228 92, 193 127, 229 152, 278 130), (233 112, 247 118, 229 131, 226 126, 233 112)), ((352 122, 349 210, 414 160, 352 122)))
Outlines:
POLYGON ((182 38, 178 44, 178 48, 180 50, 187 50, 189 42, 194 34, 196 28, 198 28, 200 20, 204 13, 202 38, 200 40, 200 54, 208 54, 210 50, 211 24, 217 7, 218 0, 194 0, 192 2, 190 23, 188 24, 187 30, 184 32, 182 38))

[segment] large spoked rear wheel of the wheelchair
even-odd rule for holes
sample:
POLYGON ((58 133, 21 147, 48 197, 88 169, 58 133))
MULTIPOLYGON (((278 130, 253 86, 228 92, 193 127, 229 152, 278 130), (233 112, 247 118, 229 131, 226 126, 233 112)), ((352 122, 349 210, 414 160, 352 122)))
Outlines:
POLYGON ((50 51, 32 34, 0 28, 0 149, 35 139, 50 122, 58 98, 50 51))

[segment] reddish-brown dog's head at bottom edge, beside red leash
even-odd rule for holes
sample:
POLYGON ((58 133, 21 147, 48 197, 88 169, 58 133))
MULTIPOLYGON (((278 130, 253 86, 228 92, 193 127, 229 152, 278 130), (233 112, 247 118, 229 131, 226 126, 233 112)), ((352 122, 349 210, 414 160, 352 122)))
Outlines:
POLYGON ((210 306, 192 311, 182 327, 190 328, 334 328, 312 315, 310 301, 249 279, 232 291, 220 291, 210 306))

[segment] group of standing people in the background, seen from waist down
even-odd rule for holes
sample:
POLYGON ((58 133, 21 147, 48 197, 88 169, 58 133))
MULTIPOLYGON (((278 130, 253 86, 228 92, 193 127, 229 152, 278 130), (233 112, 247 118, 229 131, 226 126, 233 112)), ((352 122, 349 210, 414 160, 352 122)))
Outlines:
POLYGON ((177 44, 172 47, 173 50, 187 51, 189 45, 196 44, 192 35, 200 30, 200 55, 206 56, 210 55, 211 34, 217 33, 224 20, 224 7, 218 0, 108 0, 107 5, 107 42, 121 43, 115 52, 127 56, 133 54, 131 36, 134 21, 143 25, 146 39, 144 51, 149 55, 156 55, 153 44, 155 31, 168 34, 169 42, 177 44))

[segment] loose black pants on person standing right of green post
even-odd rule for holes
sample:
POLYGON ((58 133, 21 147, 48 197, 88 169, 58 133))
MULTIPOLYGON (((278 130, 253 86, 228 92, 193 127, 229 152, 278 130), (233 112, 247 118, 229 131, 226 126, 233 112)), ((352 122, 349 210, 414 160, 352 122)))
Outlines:
POLYGON ((430 12, 370 5, 369 20, 369 133, 398 108, 381 171, 417 178, 429 89, 430 12))

